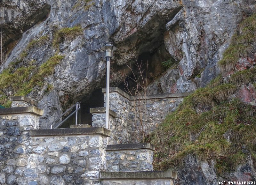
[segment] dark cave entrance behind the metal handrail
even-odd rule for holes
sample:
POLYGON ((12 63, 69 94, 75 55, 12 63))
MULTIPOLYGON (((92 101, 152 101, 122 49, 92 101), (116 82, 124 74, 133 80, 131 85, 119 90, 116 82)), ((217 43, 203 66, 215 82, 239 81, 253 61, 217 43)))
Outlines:
MULTIPOLYGON (((77 124, 89 124, 92 125, 92 114, 90 108, 104 107, 104 94, 100 89, 95 89, 91 94, 85 96, 80 103, 80 110, 78 111, 78 123, 77 124)), ((76 108, 72 110, 75 111, 76 108)), ((65 117, 67 117, 66 115, 65 117)), ((65 119, 62 118, 62 120, 65 119)), ((76 114, 72 115, 66 122, 64 122, 60 128, 70 128, 71 125, 76 123, 76 114)))

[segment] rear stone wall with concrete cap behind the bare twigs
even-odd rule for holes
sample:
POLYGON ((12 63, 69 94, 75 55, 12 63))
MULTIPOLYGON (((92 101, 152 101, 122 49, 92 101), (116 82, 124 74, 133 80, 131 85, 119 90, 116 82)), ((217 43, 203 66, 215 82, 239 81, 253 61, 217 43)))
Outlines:
MULTIPOLYGON (((143 131, 147 135, 155 130, 165 116, 175 111, 183 98, 189 95, 189 93, 169 93, 133 97, 118 87, 111 87, 109 92, 109 108, 117 114, 117 144, 138 143, 143 131)), ((102 89, 102 93, 106 101, 105 88, 102 89)))

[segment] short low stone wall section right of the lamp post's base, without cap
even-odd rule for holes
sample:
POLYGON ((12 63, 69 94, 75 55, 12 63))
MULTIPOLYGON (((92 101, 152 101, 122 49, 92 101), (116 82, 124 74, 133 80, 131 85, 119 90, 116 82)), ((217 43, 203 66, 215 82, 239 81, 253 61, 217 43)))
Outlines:
POLYGON ((107 171, 153 171, 153 150, 107 150, 107 171))

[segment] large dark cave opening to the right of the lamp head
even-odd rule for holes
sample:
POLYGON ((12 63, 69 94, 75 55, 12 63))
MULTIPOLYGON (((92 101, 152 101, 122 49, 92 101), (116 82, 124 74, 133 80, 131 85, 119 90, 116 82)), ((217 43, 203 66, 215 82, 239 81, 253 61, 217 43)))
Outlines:
MULTIPOLYGON (((133 33, 122 41, 122 43, 116 45, 121 52, 115 54, 115 68, 119 70, 120 65, 118 66, 118 64, 124 63, 122 71, 120 71, 120 73, 124 74, 124 82, 120 83, 119 81, 119 83, 116 83, 120 89, 125 92, 132 91, 134 88, 137 89, 138 83, 136 82, 136 79, 138 80, 139 76, 141 78, 140 82, 143 80, 145 82, 147 79, 146 86, 148 86, 172 66, 164 66, 162 64, 163 62, 173 61, 173 64, 179 62, 175 61, 166 50, 164 35, 166 33, 166 24, 174 18, 181 8, 182 6, 179 6, 165 16, 156 14, 143 26, 143 29, 133 33), (128 60, 127 53, 129 53, 128 57, 132 56, 128 60), (140 63, 144 64, 143 74, 141 75, 136 72, 138 70, 138 67, 135 65, 136 59, 139 65, 140 63), (131 69, 129 69, 128 66, 125 66, 125 63, 128 64, 128 66, 131 66, 131 69), (145 70, 146 63, 148 63, 147 70, 145 70), (134 73, 132 73, 133 71, 134 73)), ((134 91, 131 92, 132 95, 134 93, 134 91)))

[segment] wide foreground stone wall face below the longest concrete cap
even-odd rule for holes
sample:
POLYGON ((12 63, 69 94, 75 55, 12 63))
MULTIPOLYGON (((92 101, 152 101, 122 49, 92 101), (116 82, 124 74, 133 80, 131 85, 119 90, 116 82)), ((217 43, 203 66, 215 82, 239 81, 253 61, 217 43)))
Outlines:
POLYGON ((42 185, 97 183, 99 172, 106 169, 105 148, 101 135, 32 137, 28 158, 17 170, 24 182, 42 185))

